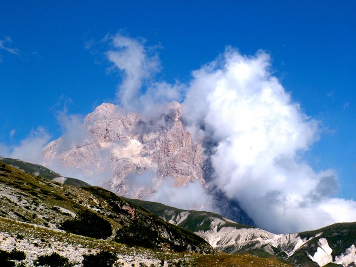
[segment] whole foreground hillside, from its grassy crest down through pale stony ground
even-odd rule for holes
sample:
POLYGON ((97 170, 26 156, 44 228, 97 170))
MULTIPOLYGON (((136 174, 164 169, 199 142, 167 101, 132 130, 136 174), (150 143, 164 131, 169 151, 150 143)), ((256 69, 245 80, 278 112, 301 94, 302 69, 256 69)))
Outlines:
POLYGON ((104 188, 61 184, 0 162, 0 261, 88 267, 89 258, 118 266, 289 266, 277 258, 217 254, 199 236, 104 188), (23 258, 13 256, 19 253, 23 258))

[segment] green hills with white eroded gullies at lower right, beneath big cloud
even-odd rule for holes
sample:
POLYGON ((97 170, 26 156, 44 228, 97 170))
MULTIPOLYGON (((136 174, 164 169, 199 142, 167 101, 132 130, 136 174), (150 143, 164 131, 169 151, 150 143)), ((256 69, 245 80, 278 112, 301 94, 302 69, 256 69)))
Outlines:
POLYGON ((356 266, 356 223, 336 223, 292 234, 273 234, 209 212, 181 210, 130 199, 163 220, 184 227, 230 254, 274 255, 300 266, 356 266))

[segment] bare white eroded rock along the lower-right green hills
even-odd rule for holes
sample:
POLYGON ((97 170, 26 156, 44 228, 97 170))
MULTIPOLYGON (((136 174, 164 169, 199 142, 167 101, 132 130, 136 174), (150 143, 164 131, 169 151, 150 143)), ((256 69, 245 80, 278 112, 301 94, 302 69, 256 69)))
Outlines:
MULTIPOLYGON (((173 211, 165 211, 162 219, 176 225, 182 225, 188 219, 188 216, 189 211, 178 214, 173 211)), ((209 230, 199 230, 194 231, 194 233, 205 239, 213 248, 227 253, 262 249, 271 255, 279 254, 280 256, 281 253, 284 253, 285 259, 289 259, 300 249, 308 246, 309 242, 317 240, 323 234, 319 232, 309 238, 301 238, 298 233, 274 234, 260 228, 241 228, 237 223, 223 217, 222 219, 209 217, 208 220, 210 221, 209 230)), ((329 263, 345 267, 356 266, 356 247, 354 244, 345 253, 336 256, 335 260, 333 260, 332 249, 326 238, 319 238, 316 244, 316 248, 313 247, 312 249, 314 251, 313 256, 307 255, 318 266, 322 267, 329 263)))

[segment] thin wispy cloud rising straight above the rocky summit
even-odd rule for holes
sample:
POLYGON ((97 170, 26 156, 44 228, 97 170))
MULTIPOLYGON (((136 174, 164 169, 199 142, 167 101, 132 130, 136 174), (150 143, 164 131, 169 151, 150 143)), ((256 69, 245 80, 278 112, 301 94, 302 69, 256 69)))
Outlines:
POLYGON ((161 70, 157 47, 145 46, 142 39, 133 39, 121 34, 106 37, 111 41, 106 56, 116 68, 123 72, 123 81, 116 92, 117 101, 126 111, 138 111, 145 117, 163 113, 168 103, 182 101, 185 85, 154 81, 161 70))

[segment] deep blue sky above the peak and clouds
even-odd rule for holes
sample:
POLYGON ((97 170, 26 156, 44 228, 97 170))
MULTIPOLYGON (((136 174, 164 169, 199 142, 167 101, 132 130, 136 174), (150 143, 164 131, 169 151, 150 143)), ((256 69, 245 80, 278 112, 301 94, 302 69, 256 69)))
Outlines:
MULTIPOLYGON (((157 46, 157 79, 188 82, 226 45, 271 56, 273 75, 321 121, 304 157, 336 170, 339 195, 356 195, 356 1, 10 1, 0 9, 0 143, 38 127, 57 138, 56 112, 86 115, 112 102, 121 76, 108 72, 107 34, 157 46), (88 49, 89 44, 91 44, 88 49), (71 99, 69 101, 68 99, 71 99), (69 101, 69 102, 68 102, 69 101)), ((1 152, 0 152, 1 155, 1 152)))

